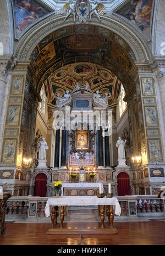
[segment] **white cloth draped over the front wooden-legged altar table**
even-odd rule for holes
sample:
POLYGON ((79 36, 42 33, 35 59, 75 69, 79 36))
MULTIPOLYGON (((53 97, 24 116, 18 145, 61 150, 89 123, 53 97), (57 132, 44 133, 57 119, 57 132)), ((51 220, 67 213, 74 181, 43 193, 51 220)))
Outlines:
POLYGON ((45 216, 50 216, 50 206, 91 206, 91 205, 113 205, 115 207, 114 213, 120 216, 121 207, 116 197, 103 197, 97 196, 63 196, 59 198, 48 198, 45 206, 45 216))

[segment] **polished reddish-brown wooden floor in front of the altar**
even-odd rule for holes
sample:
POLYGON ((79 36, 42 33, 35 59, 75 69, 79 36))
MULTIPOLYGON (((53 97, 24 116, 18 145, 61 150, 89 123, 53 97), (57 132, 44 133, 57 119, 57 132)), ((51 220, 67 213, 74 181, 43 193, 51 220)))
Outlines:
MULTIPOLYGON (((94 225, 94 223, 88 223, 94 225)), ((115 222, 118 234, 47 234, 50 223, 6 223, 0 245, 158 245, 165 244, 165 222, 115 222)), ((68 223, 76 226, 76 223, 68 223)), ((79 223, 82 225, 83 223, 79 223)), ((68 226, 68 227, 69 227, 68 226)))

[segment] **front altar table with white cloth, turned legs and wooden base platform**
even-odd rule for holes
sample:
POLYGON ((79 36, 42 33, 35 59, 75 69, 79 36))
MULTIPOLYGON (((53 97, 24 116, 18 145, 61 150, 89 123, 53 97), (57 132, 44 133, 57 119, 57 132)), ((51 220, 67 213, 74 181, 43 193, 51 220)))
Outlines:
MULTIPOLYGON (((49 198, 45 207, 45 216, 51 215, 51 227, 48 229, 47 234, 87 234, 92 231, 92 234, 118 234, 117 229, 114 227, 113 219, 114 213, 120 215, 121 208, 116 197, 98 198, 96 196, 71 196, 61 198, 49 198), (64 223, 64 207, 65 206, 89 206, 94 205, 100 208, 100 220, 101 223, 97 227, 90 228, 84 223, 83 228, 79 227, 79 224, 75 224, 74 227, 68 226, 64 223), (52 207, 51 211, 50 208, 52 207), (60 207, 60 223, 57 223, 58 208, 60 207), (106 207, 106 210, 105 210, 106 207), (51 214, 52 213, 52 214, 51 214), (107 223, 105 223, 105 213, 108 217, 107 223)), ((95 224, 96 226, 96 224, 95 224)))

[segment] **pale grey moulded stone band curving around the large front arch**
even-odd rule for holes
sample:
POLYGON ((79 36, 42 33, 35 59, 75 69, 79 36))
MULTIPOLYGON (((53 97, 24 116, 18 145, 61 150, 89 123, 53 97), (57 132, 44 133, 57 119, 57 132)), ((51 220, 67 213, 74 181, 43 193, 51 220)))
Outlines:
MULTIPOLYGON (((151 52, 144 36, 138 30, 136 30, 133 25, 122 18, 107 14, 106 16, 102 17, 101 23, 98 22, 97 18, 92 18, 91 23, 86 23, 86 25, 89 24, 106 28, 118 34, 122 38, 124 37, 125 41, 133 50, 138 62, 145 62, 146 60, 151 59, 151 52)), ((60 28, 70 27, 72 25, 75 25, 72 18, 68 18, 68 22, 64 23, 61 15, 50 15, 50 17, 47 17, 41 22, 37 23, 23 35, 15 48, 15 58, 24 61, 29 60, 32 50, 34 50, 36 44, 45 38, 46 35, 60 28)))

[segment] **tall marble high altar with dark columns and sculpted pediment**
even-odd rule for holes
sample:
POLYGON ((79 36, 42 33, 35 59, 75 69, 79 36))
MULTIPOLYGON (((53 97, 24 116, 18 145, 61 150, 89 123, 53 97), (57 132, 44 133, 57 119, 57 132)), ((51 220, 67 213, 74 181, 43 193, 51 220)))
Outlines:
MULTIPOLYGON (((65 196, 96 196, 98 185, 94 183, 101 183, 105 194, 111 184, 111 192, 117 195, 117 182, 113 182, 114 169, 110 164, 112 109, 108 108, 108 100, 111 93, 92 92, 89 82, 82 77, 72 92, 65 90, 63 95, 57 92, 53 97, 56 101, 56 107, 51 108, 56 130, 54 166, 47 166, 46 153, 40 152, 44 145, 45 150, 50 151, 42 138, 37 144, 40 146, 38 156, 45 158, 38 159, 31 175, 29 194, 34 195, 35 177, 43 173, 47 176, 48 197, 55 195, 53 182, 56 181, 73 183, 72 187, 65 187, 65 196), (76 189, 78 183, 84 185, 76 189)), ((118 169, 129 170, 124 160, 118 161, 118 169)))

